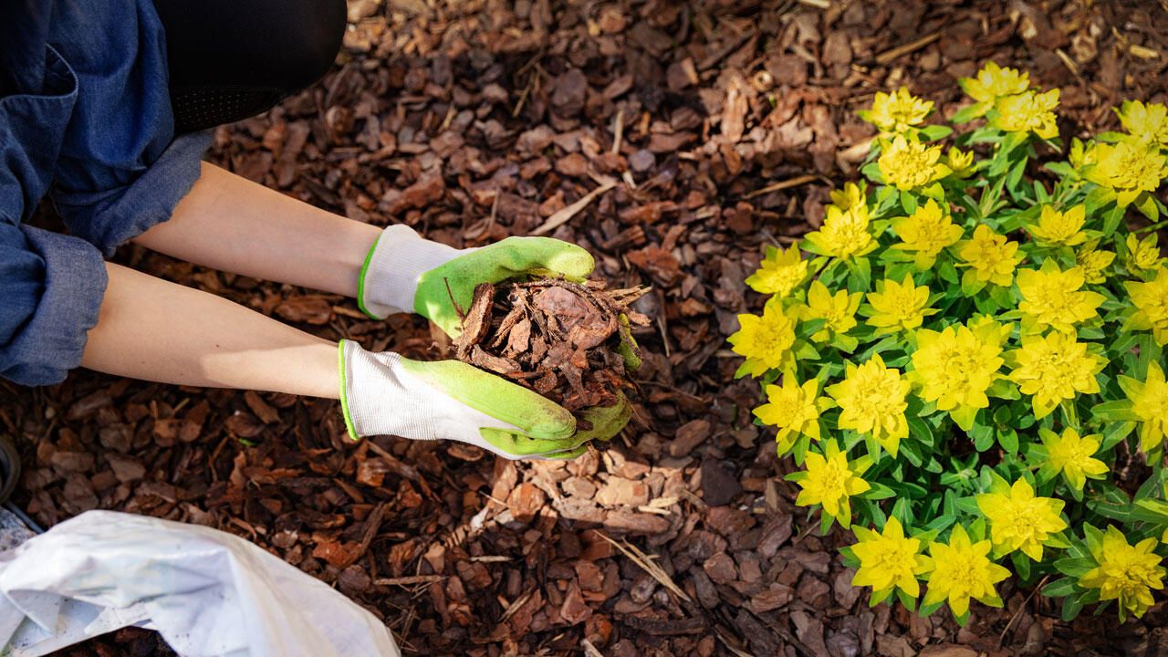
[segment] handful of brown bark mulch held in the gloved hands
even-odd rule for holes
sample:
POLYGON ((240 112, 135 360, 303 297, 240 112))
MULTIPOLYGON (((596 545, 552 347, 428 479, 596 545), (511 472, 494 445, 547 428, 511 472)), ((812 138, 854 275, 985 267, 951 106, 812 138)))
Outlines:
POLYGON ((571 413, 617 403, 633 389, 640 348, 628 307, 648 288, 607 290, 603 281, 545 277, 474 289, 456 357, 535 389, 571 413))

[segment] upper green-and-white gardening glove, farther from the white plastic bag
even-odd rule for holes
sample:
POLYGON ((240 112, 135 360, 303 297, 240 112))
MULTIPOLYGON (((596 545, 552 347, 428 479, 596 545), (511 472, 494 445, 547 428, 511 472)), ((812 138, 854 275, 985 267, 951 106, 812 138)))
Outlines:
POLYGON ((409 226, 390 226, 366 256, 357 305, 374 319, 417 312, 454 338, 463 332, 454 304, 467 311, 479 283, 499 283, 533 270, 583 278, 593 265, 588 251, 551 237, 507 237, 487 247, 456 249, 424 240, 409 226))

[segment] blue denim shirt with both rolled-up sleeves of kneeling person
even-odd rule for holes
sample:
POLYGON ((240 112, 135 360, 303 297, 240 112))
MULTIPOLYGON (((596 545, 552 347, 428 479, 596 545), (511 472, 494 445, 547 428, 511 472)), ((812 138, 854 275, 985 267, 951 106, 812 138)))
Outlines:
POLYGON ((152 0, 0 0, 0 376, 81 365, 103 256, 169 219, 208 144, 174 138, 152 0), (25 223, 46 195, 68 235, 25 223))

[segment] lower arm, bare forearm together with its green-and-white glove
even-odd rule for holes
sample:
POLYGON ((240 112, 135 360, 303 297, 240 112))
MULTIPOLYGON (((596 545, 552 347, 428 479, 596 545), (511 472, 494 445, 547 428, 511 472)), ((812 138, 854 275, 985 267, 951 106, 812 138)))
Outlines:
POLYGON ((83 367, 162 383, 340 397, 354 438, 453 440, 508 458, 586 449, 590 436, 576 435, 570 413, 463 362, 338 345, 222 297, 105 267, 109 285, 83 367))

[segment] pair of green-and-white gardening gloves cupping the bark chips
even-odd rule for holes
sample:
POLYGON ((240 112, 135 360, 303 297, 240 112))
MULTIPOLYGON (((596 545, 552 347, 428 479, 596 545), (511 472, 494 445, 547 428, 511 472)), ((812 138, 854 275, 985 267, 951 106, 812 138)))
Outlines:
MULTIPOLYGON (((583 277, 592 267, 588 251, 559 240, 508 237, 454 249, 424 240, 408 226, 390 226, 366 257, 357 305, 374 319, 417 312, 454 338, 477 284, 531 270, 583 277)), ((589 441, 616 436, 632 415, 620 395, 611 407, 580 412, 592 426, 582 431, 562 406, 465 362, 371 353, 352 340, 341 340, 340 361, 341 409, 354 440, 392 434, 458 441, 505 458, 573 458, 588 451, 589 441)))

